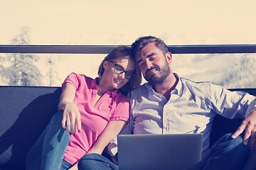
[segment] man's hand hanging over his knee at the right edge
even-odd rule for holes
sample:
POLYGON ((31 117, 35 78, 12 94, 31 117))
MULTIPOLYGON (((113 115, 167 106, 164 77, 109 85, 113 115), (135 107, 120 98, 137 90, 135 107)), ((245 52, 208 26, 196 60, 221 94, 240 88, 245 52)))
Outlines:
POLYGON ((243 144, 247 145, 250 138, 250 149, 256 148, 256 111, 252 111, 250 115, 242 121, 238 130, 232 135, 233 139, 238 137, 243 131, 245 131, 245 136, 243 139, 243 144))

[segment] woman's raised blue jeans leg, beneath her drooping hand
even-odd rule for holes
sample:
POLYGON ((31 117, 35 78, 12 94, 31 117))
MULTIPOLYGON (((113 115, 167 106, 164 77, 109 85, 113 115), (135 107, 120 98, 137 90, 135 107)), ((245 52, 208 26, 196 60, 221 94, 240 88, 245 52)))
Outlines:
POLYGON ((65 149, 70 141, 68 130, 63 130, 63 111, 55 113, 46 129, 31 147, 26 156, 26 169, 60 169, 65 149))

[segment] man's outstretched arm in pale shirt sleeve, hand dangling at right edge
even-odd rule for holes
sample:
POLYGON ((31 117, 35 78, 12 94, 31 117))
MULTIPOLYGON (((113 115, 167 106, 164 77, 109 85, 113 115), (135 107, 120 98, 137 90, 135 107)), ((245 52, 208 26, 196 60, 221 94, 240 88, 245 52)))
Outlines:
POLYGON ((256 98, 242 91, 229 91, 222 86, 208 84, 206 94, 210 96, 210 106, 215 113, 223 115, 225 118, 245 118, 238 130, 233 134, 233 138, 238 137, 245 131, 243 144, 247 145, 249 138, 250 147, 256 147, 256 98), (255 145, 255 146, 254 146, 255 145))

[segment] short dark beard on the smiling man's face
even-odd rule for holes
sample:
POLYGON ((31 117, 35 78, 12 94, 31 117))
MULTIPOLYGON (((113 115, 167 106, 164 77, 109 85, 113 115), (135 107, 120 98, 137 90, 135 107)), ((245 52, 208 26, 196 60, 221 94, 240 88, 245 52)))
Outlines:
MULTIPOLYGON (((156 69, 156 72, 159 72, 159 73, 153 73, 149 77, 144 77, 144 78, 146 79, 146 81, 148 81, 153 85, 163 83, 166 77, 168 77, 169 74, 171 73, 169 64, 167 62, 166 64, 164 64, 163 68, 156 66, 156 67, 152 67, 151 69, 156 69)), ((146 70, 146 75, 148 74, 148 72, 151 71, 151 69, 146 70)))

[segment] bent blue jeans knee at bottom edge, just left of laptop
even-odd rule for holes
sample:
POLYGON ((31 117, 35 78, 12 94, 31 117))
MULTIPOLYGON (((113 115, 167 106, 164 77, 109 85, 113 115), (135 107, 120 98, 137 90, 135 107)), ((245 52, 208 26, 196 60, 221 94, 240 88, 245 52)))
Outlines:
POLYGON ((118 166, 101 154, 86 154, 78 162, 79 170, 117 170, 118 166))

